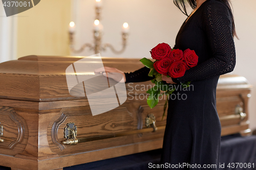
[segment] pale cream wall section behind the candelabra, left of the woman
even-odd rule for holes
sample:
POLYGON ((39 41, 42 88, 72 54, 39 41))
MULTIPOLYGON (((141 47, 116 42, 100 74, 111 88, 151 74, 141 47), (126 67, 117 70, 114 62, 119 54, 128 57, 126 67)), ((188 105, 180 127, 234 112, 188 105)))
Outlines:
MULTIPOLYGON (((75 1, 74 1, 75 2, 75 1)), ((76 0, 76 46, 85 42, 93 43, 95 0, 76 0)), ((101 56, 142 58, 150 57, 150 50, 160 42, 175 44, 175 37, 185 20, 172 0, 102 0, 102 42, 110 42, 117 50, 121 48, 121 27, 123 22, 130 25, 130 36, 125 52, 113 54, 110 49, 101 56)), ((79 55, 93 55, 83 52, 79 55)))

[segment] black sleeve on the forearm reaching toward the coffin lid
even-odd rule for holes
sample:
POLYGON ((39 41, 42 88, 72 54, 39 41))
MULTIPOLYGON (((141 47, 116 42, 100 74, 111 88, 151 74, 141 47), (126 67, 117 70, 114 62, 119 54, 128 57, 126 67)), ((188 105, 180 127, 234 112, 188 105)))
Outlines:
POLYGON ((134 72, 130 72, 130 73, 124 72, 126 83, 145 82, 145 81, 154 79, 154 77, 147 76, 149 72, 150 72, 150 68, 147 68, 146 66, 134 72))

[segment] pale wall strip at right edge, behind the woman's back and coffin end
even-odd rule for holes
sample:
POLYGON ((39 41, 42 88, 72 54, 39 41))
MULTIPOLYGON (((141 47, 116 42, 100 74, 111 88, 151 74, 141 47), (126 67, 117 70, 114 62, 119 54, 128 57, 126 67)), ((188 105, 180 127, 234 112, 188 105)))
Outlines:
POLYGON ((235 74, 244 76, 254 86, 249 101, 250 127, 256 129, 256 1, 232 1, 237 34, 240 40, 235 40, 237 51, 237 64, 235 74))

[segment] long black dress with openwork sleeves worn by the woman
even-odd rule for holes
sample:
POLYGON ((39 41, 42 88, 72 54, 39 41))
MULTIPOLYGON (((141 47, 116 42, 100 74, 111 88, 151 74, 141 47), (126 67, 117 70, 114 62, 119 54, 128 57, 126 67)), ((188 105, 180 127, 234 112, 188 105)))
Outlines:
MULTIPOLYGON (((231 72, 236 64, 230 10, 221 1, 205 1, 181 26, 174 48, 195 50, 199 61, 183 77, 173 79, 176 86, 186 81, 191 84, 170 95, 161 164, 165 168, 206 169, 208 165, 207 169, 217 169, 221 125, 216 87, 219 76, 231 72)), ((125 73, 126 83, 150 80, 148 72, 143 67, 125 73)))

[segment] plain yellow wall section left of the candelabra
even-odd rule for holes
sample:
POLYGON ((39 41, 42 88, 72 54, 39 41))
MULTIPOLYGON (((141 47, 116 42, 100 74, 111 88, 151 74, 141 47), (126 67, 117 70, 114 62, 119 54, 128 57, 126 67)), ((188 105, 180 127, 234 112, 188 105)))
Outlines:
POLYGON ((44 0, 14 15, 17 18, 17 58, 28 55, 70 55, 70 6, 71 0, 44 0))

